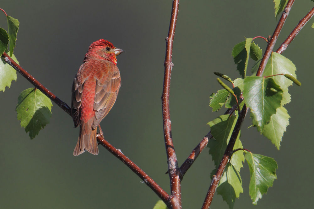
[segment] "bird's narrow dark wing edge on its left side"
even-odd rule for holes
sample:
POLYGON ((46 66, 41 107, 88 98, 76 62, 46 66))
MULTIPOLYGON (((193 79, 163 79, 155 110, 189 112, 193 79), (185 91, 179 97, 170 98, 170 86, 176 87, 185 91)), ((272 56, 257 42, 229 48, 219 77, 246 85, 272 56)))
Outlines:
MULTIPOLYGON (((78 71, 80 71, 81 68, 83 68, 83 65, 80 66, 80 69, 78 71)), ((79 108, 81 107, 82 102, 83 87, 84 82, 80 83, 75 77, 72 86, 72 102, 71 102, 72 107, 71 112, 75 128, 78 127, 79 125, 79 108)))

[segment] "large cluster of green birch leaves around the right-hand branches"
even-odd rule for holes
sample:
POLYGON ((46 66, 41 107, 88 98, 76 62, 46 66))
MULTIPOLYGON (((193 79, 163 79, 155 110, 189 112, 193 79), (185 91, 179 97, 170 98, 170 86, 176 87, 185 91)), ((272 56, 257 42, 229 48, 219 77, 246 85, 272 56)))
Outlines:
MULTIPOLYGON (((277 149, 279 149, 281 139, 289 124, 290 117, 283 105, 290 102, 288 86, 292 85, 293 81, 300 84, 295 78, 295 65, 284 56, 273 52, 263 76, 255 76, 261 62, 262 50, 252 40, 252 38, 248 38, 236 44, 232 50, 237 70, 242 78, 230 81, 228 76, 215 73, 230 81, 233 89, 231 90, 225 84, 221 84, 224 89, 211 95, 209 106, 213 108, 213 111, 218 111, 223 105, 227 108, 236 105, 236 101, 240 101, 236 97, 239 98, 241 95, 244 100, 239 104, 240 109, 235 111, 235 115, 222 115, 208 123, 211 134, 214 136, 214 139, 208 142, 209 154, 212 155, 216 166, 211 175, 215 174, 220 164, 235 127, 238 111, 241 110, 244 103, 251 109, 253 126, 256 126, 259 132, 270 139, 277 149), (246 76, 250 57, 256 63, 252 67, 253 75, 246 76)), ((243 192, 240 169, 243 167, 242 162, 244 162, 244 159, 246 159, 250 168, 249 193, 253 204, 257 204, 257 201, 267 192, 268 187, 272 186, 273 180, 276 179, 277 163, 274 159, 244 152, 241 150, 243 147, 239 138, 240 133, 234 145, 234 150, 239 150, 232 155, 217 187, 217 193, 223 196, 230 208, 233 208, 236 197, 238 198, 240 193, 243 192)))

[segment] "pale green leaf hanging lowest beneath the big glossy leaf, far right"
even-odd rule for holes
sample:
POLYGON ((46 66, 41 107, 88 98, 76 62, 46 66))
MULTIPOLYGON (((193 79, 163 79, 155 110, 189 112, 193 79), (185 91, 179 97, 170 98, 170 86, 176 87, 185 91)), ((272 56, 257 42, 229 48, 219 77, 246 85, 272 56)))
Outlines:
POLYGON ((286 108, 277 108, 276 114, 270 117, 270 121, 264 127, 263 135, 266 136, 279 150, 281 138, 284 136, 287 126, 289 125, 288 112, 286 108))

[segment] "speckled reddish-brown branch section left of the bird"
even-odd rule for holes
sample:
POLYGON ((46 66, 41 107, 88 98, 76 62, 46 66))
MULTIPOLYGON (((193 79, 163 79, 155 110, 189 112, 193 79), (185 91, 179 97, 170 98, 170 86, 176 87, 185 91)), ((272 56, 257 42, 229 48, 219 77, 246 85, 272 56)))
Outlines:
POLYGON ((45 86, 41 85, 32 75, 25 71, 20 65, 18 65, 12 58, 7 54, 3 53, 2 55, 4 61, 11 65, 16 71, 18 71, 22 76, 24 76, 31 84, 43 92, 47 97, 49 97, 53 102, 55 102, 59 107, 61 107, 65 112, 71 116, 71 107, 69 107, 65 102, 62 102, 61 99, 56 97, 51 91, 49 91, 45 86))

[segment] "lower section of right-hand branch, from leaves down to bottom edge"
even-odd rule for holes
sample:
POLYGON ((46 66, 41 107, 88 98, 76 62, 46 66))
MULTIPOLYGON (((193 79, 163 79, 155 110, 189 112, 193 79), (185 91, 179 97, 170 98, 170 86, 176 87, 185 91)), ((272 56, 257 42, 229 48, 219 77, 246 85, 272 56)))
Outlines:
POLYGON ((233 146, 236 142, 236 138, 239 134, 242 122, 245 118, 246 110, 247 110, 247 108, 246 108, 246 105, 244 104, 242 111, 239 114, 239 118, 236 122, 236 126, 233 129, 233 132, 232 132, 232 135, 230 137, 227 148, 225 150, 225 154, 220 161, 220 164, 219 164, 219 167, 216 171, 216 174, 213 176, 213 179, 212 179, 212 182, 210 184, 209 190, 207 192, 207 195, 206 195, 205 201, 203 203, 202 209, 208 209, 212 200, 213 200, 213 197, 214 197, 215 191, 217 189, 218 183, 221 179, 222 174, 224 173, 225 167, 226 167, 228 160, 229 160, 229 158, 233 152, 233 146))

